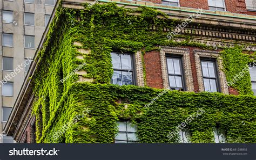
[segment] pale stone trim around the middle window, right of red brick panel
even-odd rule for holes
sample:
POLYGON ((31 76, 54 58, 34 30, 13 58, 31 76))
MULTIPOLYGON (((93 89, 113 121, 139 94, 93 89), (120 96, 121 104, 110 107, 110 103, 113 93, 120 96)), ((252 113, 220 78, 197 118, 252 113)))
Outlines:
POLYGON ((181 59, 183 61, 186 91, 193 92, 194 84, 193 84, 191 62, 190 62, 190 50, 188 48, 160 46, 161 71, 163 73, 162 76, 163 76, 164 89, 169 88, 169 78, 168 78, 168 72, 167 72, 166 54, 182 56, 181 59))

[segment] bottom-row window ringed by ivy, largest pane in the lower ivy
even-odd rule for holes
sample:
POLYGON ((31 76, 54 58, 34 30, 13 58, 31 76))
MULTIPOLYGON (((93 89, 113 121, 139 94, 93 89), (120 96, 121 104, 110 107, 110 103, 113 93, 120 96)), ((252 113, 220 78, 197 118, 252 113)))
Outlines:
POLYGON ((115 143, 136 143, 137 139, 137 126, 132 125, 129 121, 119 121, 118 124, 118 135, 116 136, 115 143))

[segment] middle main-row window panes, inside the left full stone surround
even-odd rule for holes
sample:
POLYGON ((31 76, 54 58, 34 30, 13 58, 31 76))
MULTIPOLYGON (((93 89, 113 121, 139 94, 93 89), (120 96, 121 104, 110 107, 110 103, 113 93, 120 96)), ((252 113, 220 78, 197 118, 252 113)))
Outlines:
POLYGON ((166 57, 169 86, 175 90, 185 90, 180 57, 166 57))

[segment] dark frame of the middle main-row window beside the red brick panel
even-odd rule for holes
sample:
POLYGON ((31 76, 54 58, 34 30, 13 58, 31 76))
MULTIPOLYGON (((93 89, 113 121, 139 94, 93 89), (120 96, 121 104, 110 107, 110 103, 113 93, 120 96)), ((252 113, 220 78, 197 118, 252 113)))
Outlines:
MULTIPOLYGON (((186 83, 185 83, 184 67, 183 67, 183 65, 182 65, 182 64, 183 64, 183 56, 174 55, 174 54, 166 54, 166 56, 165 56, 165 61, 166 61, 166 67, 167 67, 167 76, 168 76, 168 84, 169 84, 169 87, 171 88, 169 76, 180 76, 180 77, 181 77, 181 84, 183 85, 183 88, 182 88, 183 90, 178 90, 178 91, 187 91, 187 89, 186 89, 186 83), (169 74, 167 59, 176 59, 176 60, 179 60, 179 66, 180 66, 181 75, 178 75, 178 74, 169 74)), ((171 88, 171 89, 176 90, 176 88, 171 88)))

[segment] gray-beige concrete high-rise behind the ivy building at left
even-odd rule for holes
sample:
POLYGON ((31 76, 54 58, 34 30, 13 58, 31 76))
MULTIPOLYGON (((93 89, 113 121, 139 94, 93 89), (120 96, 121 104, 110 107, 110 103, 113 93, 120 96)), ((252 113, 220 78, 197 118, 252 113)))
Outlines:
POLYGON ((3 128, 56 0, 0 0, 0 143, 12 142, 3 128))

